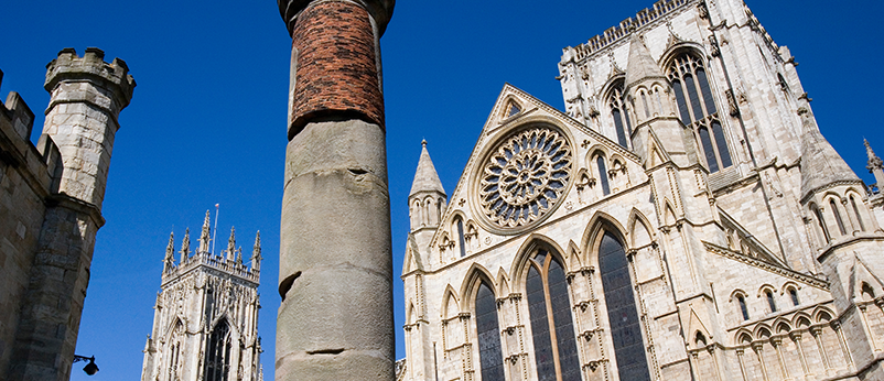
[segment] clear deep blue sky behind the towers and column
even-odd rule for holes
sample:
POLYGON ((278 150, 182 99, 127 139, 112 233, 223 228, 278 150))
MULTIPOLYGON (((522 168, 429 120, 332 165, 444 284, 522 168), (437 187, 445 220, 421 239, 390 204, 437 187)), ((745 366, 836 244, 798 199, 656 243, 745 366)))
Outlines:
MULTIPOLYGON (((881 41, 884 3, 750 0, 755 14, 799 62, 823 134, 856 174, 862 138, 884 154, 881 41)), ((381 40, 395 273, 408 231, 406 204, 422 139, 452 190, 504 83, 551 106, 563 101, 561 48, 651 6, 649 0, 399 1, 381 40)), ((73 380, 132 380, 160 287, 170 231, 198 231, 220 204, 218 247, 236 226, 238 244, 261 230, 260 334, 265 375, 273 374, 279 295, 279 213, 285 150, 291 40, 277 4, 262 1, 9 1, 0 92, 20 92, 43 123, 45 65, 63 47, 98 46, 138 81, 121 117, 98 232, 77 353, 101 371, 73 380)), ((220 250, 220 249, 218 249, 220 250)), ((401 281, 395 280, 397 357, 403 357, 401 281)), ((77 367, 79 368, 79 367, 77 367)))

